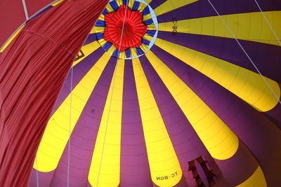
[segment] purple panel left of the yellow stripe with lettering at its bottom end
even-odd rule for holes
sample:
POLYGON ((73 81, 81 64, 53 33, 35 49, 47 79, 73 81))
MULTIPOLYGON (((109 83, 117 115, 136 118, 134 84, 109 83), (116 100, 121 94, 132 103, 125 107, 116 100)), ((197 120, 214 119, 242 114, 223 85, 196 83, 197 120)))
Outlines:
POLYGON ((131 60, 125 62, 122 107, 120 186, 152 187, 131 60))

